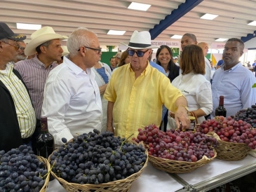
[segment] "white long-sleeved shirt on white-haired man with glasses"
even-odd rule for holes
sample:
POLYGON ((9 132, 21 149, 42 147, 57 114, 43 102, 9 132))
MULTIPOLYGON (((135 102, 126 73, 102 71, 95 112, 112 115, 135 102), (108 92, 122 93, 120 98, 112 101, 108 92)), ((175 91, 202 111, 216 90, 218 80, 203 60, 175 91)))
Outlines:
POLYGON ((93 71, 83 71, 64 57, 46 80, 42 116, 48 118, 56 145, 62 144, 62 137, 69 141, 77 133, 101 130, 102 103, 93 71))

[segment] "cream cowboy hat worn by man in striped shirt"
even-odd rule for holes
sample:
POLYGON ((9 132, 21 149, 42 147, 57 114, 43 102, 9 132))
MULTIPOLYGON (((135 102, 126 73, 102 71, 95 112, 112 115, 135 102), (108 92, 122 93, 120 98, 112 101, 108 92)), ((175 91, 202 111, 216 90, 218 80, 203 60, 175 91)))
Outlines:
POLYGON ((67 39, 67 36, 55 34, 52 27, 43 27, 38 29, 36 32, 31 34, 31 41, 25 48, 25 55, 34 55, 34 53, 36 53, 37 46, 40 46, 42 43, 53 39, 67 39))

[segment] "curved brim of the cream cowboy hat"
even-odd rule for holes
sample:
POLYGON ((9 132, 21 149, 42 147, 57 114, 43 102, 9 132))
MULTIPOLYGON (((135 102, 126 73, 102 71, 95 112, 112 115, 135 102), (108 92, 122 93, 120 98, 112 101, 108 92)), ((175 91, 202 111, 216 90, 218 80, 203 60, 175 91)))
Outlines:
POLYGON ((67 36, 62 36, 60 34, 43 34, 41 36, 37 36, 35 39, 32 39, 25 48, 25 55, 34 55, 36 53, 36 47, 40 46, 42 43, 46 41, 50 41, 53 39, 67 39, 67 36))

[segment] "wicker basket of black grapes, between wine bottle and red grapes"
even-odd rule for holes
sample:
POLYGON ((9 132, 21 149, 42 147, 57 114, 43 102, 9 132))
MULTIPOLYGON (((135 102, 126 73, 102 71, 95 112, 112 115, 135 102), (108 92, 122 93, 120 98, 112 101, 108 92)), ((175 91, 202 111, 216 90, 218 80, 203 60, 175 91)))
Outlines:
MULTIPOLYGON (((134 142, 133 142, 134 143, 134 142)), ((55 150, 57 151, 57 150, 55 150)), ((148 161, 148 152, 147 150, 145 151, 147 154, 147 160, 144 163, 144 166, 139 172, 136 172, 134 174, 131 174, 129 177, 126 177, 126 179, 120 179, 117 181, 112 181, 108 182, 105 184, 74 184, 74 183, 69 183, 65 179, 62 179, 58 177, 54 172, 50 171, 51 174, 53 174, 53 177, 57 179, 60 184, 67 190, 67 191, 72 191, 72 192, 111 192, 111 191, 119 191, 119 192, 126 192, 130 190, 130 187, 138 177, 140 177, 140 174, 142 174, 142 170, 144 167, 147 166, 147 161, 148 161)), ((48 158, 50 160, 50 156, 48 158)))

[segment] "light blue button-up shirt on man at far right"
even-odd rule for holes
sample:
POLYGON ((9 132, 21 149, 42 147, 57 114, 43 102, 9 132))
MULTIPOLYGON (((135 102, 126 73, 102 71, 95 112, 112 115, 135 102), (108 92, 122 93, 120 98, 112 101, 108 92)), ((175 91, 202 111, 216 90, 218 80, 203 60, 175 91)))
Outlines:
POLYGON ((211 118, 215 117, 215 109, 219 106, 220 95, 224 95, 227 116, 234 116, 239 110, 251 107, 256 102, 256 88, 252 88, 256 78, 252 71, 243 67, 241 62, 226 71, 224 71, 224 66, 225 64, 222 64, 213 75, 211 118))

